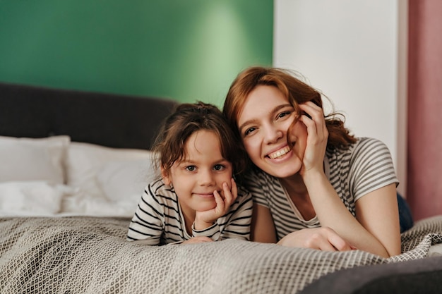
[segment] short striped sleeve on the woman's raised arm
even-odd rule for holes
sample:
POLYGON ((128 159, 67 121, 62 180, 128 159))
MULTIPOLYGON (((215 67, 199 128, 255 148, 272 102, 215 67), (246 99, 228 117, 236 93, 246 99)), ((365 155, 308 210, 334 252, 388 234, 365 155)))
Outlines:
POLYGON ((354 201, 399 180, 388 147, 380 140, 362 138, 354 149, 350 169, 350 190, 354 201))

